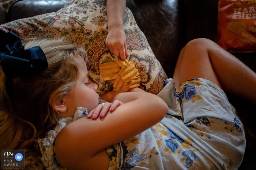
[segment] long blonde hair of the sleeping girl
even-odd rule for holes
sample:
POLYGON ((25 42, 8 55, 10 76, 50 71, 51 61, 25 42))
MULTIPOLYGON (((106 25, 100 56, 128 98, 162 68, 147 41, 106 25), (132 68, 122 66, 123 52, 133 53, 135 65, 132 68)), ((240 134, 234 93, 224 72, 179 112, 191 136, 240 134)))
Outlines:
POLYGON ((37 139, 58 123, 49 104, 70 94, 79 76, 76 55, 86 52, 65 38, 26 39, 25 49, 40 46, 48 68, 36 76, 8 79, 0 68, 0 150, 23 149, 25 169, 45 169, 37 139), (33 160, 33 161, 31 161, 33 160), (31 161, 31 162, 30 162, 31 161))

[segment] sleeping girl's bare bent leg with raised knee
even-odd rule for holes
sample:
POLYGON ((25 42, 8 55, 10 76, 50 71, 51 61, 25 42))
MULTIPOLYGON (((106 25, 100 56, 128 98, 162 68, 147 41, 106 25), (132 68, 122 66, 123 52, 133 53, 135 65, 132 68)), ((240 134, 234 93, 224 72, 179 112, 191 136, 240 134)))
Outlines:
POLYGON ((211 40, 192 40, 180 52, 173 74, 176 88, 193 78, 210 80, 225 92, 256 103, 256 73, 211 40))

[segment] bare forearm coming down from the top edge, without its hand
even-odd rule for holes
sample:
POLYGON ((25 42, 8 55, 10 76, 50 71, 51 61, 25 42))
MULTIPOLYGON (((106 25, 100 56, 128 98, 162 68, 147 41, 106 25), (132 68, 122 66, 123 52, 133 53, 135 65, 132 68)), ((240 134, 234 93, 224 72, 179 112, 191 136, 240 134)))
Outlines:
POLYGON ((112 31, 115 27, 123 28, 123 16, 125 10, 126 0, 108 0, 107 1, 107 15, 108 15, 108 29, 112 31))

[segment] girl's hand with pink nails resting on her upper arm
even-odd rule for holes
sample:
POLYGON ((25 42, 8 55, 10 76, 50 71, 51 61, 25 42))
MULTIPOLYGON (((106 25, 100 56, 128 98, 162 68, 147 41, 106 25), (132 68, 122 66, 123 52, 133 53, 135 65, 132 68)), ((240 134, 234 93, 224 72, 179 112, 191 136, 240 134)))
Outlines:
POLYGON ((114 111, 118 106, 122 105, 124 103, 120 102, 119 100, 114 100, 113 103, 106 102, 104 105, 103 104, 98 104, 96 108, 94 108, 90 113, 88 114, 87 118, 90 119, 92 118, 93 120, 99 118, 103 118, 108 111, 110 113, 114 111))

